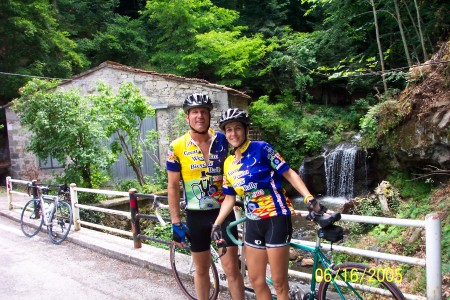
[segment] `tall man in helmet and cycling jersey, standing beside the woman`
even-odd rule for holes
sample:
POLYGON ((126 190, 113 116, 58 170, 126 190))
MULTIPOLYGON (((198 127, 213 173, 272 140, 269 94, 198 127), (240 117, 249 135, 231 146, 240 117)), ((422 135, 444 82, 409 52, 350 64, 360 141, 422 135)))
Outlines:
MULTIPOLYGON (((195 264, 197 299, 209 298, 210 233, 225 197, 222 193, 223 163, 228 155, 228 142, 221 132, 210 128, 212 108, 207 95, 192 94, 186 97, 183 109, 190 130, 170 144, 166 163, 173 240, 183 246, 188 230, 195 264), (180 180, 187 228, 180 217, 180 180)), ((227 224, 234 221, 234 213, 224 215, 223 220, 227 224)), ((237 229, 234 235, 237 237, 237 229)), ((238 247, 231 240, 226 242, 229 247, 221 257, 222 267, 231 296, 233 299, 243 299, 244 282, 239 272, 238 247)), ((223 250, 219 251, 222 254, 223 250)))

